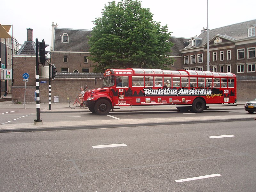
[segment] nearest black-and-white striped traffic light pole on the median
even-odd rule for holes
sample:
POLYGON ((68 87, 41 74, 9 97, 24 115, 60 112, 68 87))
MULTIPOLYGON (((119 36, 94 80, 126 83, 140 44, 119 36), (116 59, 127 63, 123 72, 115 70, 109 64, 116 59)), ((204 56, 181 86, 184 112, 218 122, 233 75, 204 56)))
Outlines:
POLYGON ((34 125, 42 125, 43 121, 40 119, 40 87, 39 87, 39 61, 38 61, 38 39, 36 39, 36 119, 34 125))

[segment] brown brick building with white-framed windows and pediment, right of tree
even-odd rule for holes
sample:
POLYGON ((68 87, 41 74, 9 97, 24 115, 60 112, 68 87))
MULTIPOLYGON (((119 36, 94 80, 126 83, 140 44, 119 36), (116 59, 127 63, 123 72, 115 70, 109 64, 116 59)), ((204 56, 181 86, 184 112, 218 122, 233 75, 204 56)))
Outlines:
MULTIPOLYGON (((237 76, 256 76, 256 20, 209 29, 209 68, 237 76)), ((207 31, 190 38, 180 50, 182 69, 206 70, 207 31)))

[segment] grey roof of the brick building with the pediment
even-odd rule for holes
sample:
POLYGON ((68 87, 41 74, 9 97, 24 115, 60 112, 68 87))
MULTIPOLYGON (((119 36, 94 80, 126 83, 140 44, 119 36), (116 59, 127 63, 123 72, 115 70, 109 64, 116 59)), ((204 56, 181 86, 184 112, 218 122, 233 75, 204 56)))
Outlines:
MULTIPOLYGON (((250 38, 247 36, 248 28, 251 26, 255 26, 255 24, 256 20, 250 20, 216 29, 209 29, 209 41, 218 35, 222 36, 223 38, 227 37, 227 39, 229 40, 240 40, 250 38)), ((197 47, 204 46, 207 43, 207 31, 203 31, 198 37, 202 38, 202 41, 197 47)))

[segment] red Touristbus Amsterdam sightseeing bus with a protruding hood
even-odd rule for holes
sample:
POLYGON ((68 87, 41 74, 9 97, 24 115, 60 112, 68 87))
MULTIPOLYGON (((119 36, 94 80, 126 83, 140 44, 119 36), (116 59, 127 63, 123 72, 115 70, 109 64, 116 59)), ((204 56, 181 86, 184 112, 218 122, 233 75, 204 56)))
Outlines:
POLYGON ((236 103, 236 75, 192 70, 107 69, 103 87, 86 91, 92 113, 132 106, 175 105, 182 112, 203 112, 209 104, 236 103))

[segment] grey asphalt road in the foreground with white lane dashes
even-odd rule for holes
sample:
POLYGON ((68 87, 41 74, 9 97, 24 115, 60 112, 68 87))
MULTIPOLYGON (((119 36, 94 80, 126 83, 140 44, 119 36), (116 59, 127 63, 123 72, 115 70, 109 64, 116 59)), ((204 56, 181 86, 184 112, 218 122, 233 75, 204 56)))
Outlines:
POLYGON ((255 191, 255 139, 255 121, 1 133, 0 191, 255 191))

